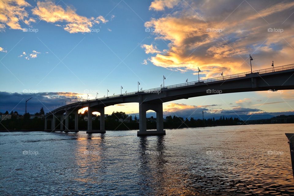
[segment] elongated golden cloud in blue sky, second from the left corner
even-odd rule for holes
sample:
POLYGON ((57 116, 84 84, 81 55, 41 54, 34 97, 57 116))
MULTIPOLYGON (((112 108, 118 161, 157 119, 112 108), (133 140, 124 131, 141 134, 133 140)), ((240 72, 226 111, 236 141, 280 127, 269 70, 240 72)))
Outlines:
POLYGON ((40 20, 49 23, 65 22, 64 30, 70 33, 91 32, 94 23, 108 22, 103 16, 96 18, 80 16, 74 9, 67 7, 65 10, 62 6, 55 5, 51 1, 37 2, 37 7, 32 9, 32 13, 38 16, 40 20))

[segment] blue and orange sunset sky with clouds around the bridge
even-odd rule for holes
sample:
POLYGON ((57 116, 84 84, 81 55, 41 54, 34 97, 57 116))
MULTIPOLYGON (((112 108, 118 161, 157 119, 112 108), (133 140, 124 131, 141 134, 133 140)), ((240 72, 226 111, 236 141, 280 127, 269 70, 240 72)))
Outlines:
MULTIPOLYGON (((294 1, 0 0, 0 112, 294 63, 294 1)), ((294 77, 294 76, 293 76, 294 77)), ((164 103, 165 115, 294 114, 294 91, 164 103)), ((137 114, 138 103, 105 108, 137 114)))

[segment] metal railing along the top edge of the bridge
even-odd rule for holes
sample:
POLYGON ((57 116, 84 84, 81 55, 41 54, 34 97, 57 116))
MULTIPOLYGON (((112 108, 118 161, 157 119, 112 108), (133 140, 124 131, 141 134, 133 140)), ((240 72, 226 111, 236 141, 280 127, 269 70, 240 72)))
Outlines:
MULTIPOLYGON (((266 74, 266 73, 291 70, 291 69, 294 69, 294 64, 272 67, 272 68, 267 68, 267 69, 262 69, 262 70, 255 70, 255 71, 253 71, 253 73, 266 74)), ((215 81, 235 79, 235 78, 240 78, 240 77, 246 77, 247 74, 251 74, 251 72, 244 72, 244 73, 240 73, 240 74, 232 74, 232 75, 228 75, 228 76, 214 77, 214 78, 200 80, 200 82, 209 83, 209 82, 215 82, 215 81)), ((128 92, 128 93, 123 93, 121 95, 119 94, 119 95, 112 95, 112 96, 108 96, 108 97, 100 97, 97 99, 79 101, 79 102, 72 103, 72 104, 85 103, 88 101, 96 101, 96 100, 105 100, 105 99, 111 99, 111 98, 121 97, 121 96, 129 96, 129 95, 134 95, 139 92, 142 92, 142 93, 159 92, 159 91, 162 91, 162 89, 179 88, 179 87, 184 87, 184 86, 195 85, 196 83, 198 83, 198 81, 186 82, 186 83, 176 84, 176 85, 169 85, 169 86, 159 87, 159 88, 154 88, 154 89, 141 90, 141 91, 137 91, 137 92, 128 92)), ((68 104, 68 105, 72 105, 72 104, 68 104)), ((66 106, 68 106, 68 105, 66 105, 66 106)))

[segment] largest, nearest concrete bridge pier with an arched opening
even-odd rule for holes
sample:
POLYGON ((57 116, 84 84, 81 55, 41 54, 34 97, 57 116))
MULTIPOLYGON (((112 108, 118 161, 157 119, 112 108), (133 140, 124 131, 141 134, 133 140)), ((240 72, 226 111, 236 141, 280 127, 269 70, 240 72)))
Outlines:
POLYGON ((165 135, 163 129, 163 108, 162 103, 140 103, 139 104, 139 131, 137 136, 165 135), (147 131, 146 111, 156 111, 156 130, 147 131))

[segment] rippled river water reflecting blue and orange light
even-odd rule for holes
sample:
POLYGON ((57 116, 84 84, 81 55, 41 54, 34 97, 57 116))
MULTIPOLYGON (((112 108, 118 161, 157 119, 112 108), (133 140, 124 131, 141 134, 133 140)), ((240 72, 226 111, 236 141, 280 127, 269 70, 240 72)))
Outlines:
POLYGON ((0 195, 294 195, 293 126, 0 133, 0 195))

